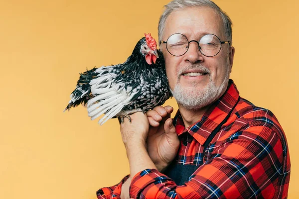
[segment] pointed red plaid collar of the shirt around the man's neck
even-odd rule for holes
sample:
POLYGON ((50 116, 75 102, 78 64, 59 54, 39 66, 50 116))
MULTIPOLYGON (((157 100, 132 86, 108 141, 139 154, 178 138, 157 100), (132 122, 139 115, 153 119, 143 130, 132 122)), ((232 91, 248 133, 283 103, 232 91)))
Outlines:
POLYGON ((188 128, 185 128, 181 114, 178 110, 173 119, 177 135, 179 136, 188 132, 203 145, 211 132, 225 119, 230 110, 235 106, 238 98, 239 91, 233 80, 229 80, 225 93, 205 111, 200 120, 188 128))

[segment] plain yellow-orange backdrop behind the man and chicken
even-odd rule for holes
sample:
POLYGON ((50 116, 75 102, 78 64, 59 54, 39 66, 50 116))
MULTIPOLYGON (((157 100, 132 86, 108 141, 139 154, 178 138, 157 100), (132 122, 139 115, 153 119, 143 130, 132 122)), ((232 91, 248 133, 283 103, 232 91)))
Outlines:
MULTIPOLYGON (((0 199, 95 199, 129 172, 115 119, 99 126, 82 106, 63 109, 79 72, 124 62, 145 32, 157 39, 168 1, 0 1, 0 199)), ((231 78, 282 124, 299 198, 299 3, 215 2, 234 24, 231 78)))

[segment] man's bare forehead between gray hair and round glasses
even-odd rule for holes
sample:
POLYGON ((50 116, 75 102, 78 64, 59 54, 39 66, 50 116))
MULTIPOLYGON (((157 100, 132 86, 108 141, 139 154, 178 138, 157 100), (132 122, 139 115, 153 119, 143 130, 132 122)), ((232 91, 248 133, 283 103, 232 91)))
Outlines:
POLYGON ((171 34, 181 33, 189 39, 211 33, 223 36, 222 19, 216 11, 209 7, 186 7, 170 13, 165 21, 163 39, 171 34))

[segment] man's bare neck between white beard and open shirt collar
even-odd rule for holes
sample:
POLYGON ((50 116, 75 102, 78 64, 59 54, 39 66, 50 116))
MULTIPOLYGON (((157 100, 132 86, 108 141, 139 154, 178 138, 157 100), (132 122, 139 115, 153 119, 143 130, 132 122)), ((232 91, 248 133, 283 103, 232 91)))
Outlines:
POLYGON ((197 110, 190 110, 186 109, 182 105, 178 104, 179 112, 182 116, 185 128, 191 126, 195 122, 201 119, 202 115, 205 113, 205 111, 210 107, 210 105, 205 106, 201 109, 197 110))

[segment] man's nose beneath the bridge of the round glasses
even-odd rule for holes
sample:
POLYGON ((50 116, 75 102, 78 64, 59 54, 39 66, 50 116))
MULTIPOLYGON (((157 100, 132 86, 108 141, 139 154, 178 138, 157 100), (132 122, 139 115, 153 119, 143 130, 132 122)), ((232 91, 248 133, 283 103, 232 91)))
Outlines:
POLYGON ((191 40, 189 42, 188 51, 185 54, 185 61, 190 63, 203 62, 203 55, 199 51, 198 41, 191 40))

